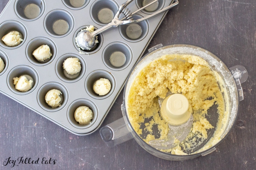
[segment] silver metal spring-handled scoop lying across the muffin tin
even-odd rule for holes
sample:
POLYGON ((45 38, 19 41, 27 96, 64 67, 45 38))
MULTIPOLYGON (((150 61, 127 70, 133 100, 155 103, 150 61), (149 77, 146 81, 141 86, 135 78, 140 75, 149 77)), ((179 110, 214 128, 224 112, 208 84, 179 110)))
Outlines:
POLYGON ((137 22, 144 21, 144 20, 146 20, 146 19, 148 19, 148 18, 151 18, 151 17, 153 17, 153 16, 156 16, 156 15, 158 15, 158 14, 164 12, 164 11, 167 11, 167 10, 169 10, 170 8, 174 7, 175 5, 179 4, 179 1, 174 2, 174 0, 172 0, 172 1, 171 1, 171 5, 169 5, 169 6, 165 7, 165 8, 163 8, 162 10, 159 10, 159 11, 157 11, 156 13, 151 14, 151 15, 148 15, 148 16, 146 16, 146 17, 144 17, 144 18, 134 20, 134 19, 132 18, 132 16, 133 16, 134 14, 136 14, 137 12, 143 10, 144 8, 146 8, 146 7, 150 6, 150 5, 152 5, 153 3, 157 2, 158 0, 154 0, 154 1, 152 1, 151 3, 149 3, 149 4, 145 5, 145 6, 143 6, 143 7, 140 8, 139 10, 137 10, 137 11, 135 11, 135 12, 133 12, 133 13, 130 13, 130 11, 129 11, 128 8, 127 8, 127 5, 130 4, 132 1, 133 1, 133 0, 128 0, 128 1, 126 1, 125 3, 123 3, 123 4, 119 7, 119 9, 118 9, 116 15, 114 16, 114 19, 113 19, 110 23, 108 23, 108 24, 106 24, 105 26, 99 28, 98 30, 95 30, 94 32, 89 32, 89 31, 86 31, 86 30, 81 30, 81 31, 77 34, 77 36, 76 36, 76 45, 77 45, 80 49, 82 49, 82 50, 91 51, 91 50, 94 49, 94 47, 95 47, 95 45, 96 45, 96 43, 95 43, 95 41, 96 41, 95 36, 98 35, 98 34, 100 34, 101 32, 106 31, 106 30, 108 30, 108 29, 111 28, 111 27, 117 27, 117 26, 119 26, 119 25, 126 25, 126 24, 129 24, 129 23, 137 23, 137 22), (173 2, 174 2, 174 3, 173 3, 173 2), (121 15, 122 13, 125 15, 125 17, 119 20, 118 18, 120 17, 120 15, 121 15), (125 19, 126 19, 126 20, 125 20, 125 19))

